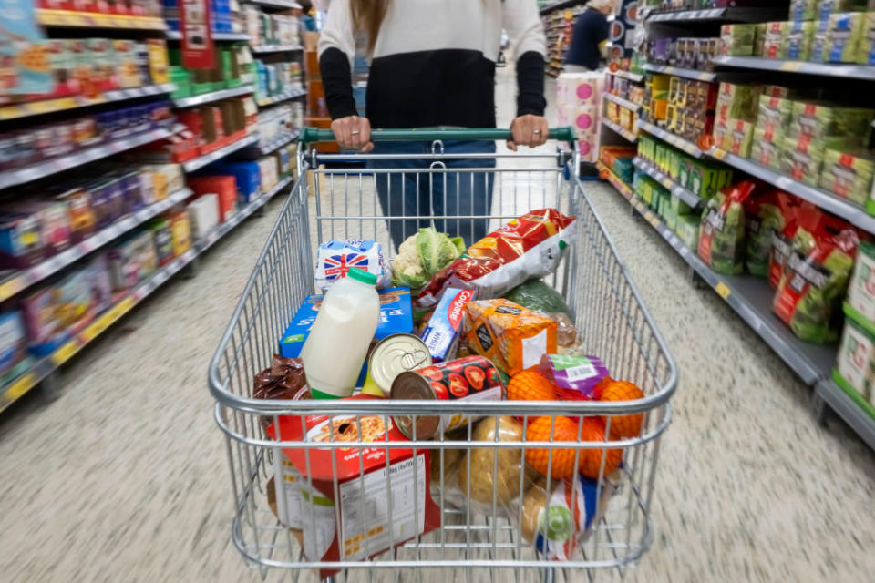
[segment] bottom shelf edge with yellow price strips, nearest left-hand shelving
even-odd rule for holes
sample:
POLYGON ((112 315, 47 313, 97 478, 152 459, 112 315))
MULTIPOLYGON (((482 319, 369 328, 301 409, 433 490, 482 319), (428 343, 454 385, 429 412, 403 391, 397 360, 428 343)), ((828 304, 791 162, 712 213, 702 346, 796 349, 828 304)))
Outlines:
POLYGON ((36 384, 39 384, 46 376, 56 371, 62 364, 67 363, 74 355, 105 332, 109 326, 118 322, 122 316, 133 310, 139 302, 142 302, 152 292, 155 292, 161 284, 168 281, 170 277, 188 265, 197 255, 198 251, 190 249, 158 271, 155 271, 149 276, 148 280, 142 281, 134 289, 122 295, 105 312, 100 314, 85 329, 78 332, 54 353, 36 360, 36 363, 31 366, 30 370, 21 374, 12 383, 0 387, 0 411, 13 404, 19 397, 34 388, 36 384))

